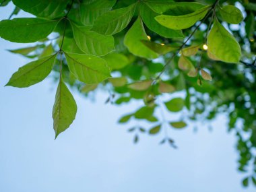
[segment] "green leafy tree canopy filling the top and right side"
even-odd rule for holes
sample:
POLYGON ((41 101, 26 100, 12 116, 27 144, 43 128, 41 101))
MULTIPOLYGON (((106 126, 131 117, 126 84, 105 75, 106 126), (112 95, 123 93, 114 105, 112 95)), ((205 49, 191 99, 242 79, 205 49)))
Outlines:
MULTIPOLYGON (((9 2, 0 0, 0 6, 9 2)), ((27 88, 53 74, 58 84, 55 137, 77 113, 70 88, 86 98, 102 90, 108 94, 106 102, 116 105, 143 100, 144 105, 119 119, 129 123, 135 143, 140 134, 159 134, 160 144, 177 148, 167 129, 226 115, 228 131, 237 137, 238 170, 246 174, 243 185, 256 185, 252 2, 13 0, 15 9, 0 22, 0 37, 32 43, 9 51, 33 61, 13 73, 6 86, 27 88), (34 17, 11 19, 20 10, 34 17), (158 110, 179 118, 169 121, 158 110)))

